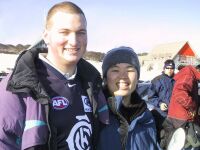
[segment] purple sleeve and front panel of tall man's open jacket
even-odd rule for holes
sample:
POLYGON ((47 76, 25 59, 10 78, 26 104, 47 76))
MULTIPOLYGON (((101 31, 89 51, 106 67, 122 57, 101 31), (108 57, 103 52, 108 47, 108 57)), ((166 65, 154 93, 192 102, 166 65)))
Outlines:
POLYGON ((16 95, 0 83, 0 149, 19 150, 43 145, 48 129, 41 104, 25 94, 16 95))

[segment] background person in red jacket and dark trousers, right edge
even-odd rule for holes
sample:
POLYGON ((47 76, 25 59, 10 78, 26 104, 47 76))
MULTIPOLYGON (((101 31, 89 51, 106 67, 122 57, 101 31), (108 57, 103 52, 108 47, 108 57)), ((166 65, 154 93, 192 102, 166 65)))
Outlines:
MULTIPOLYGON (((168 115, 163 123, 164 138, 161 144, 165 147, 169 141, 170 134, 177 128, 190 125, 200 125, 200 96, 198 95, 198 81, 200 81, 200 72, 193 66, 185 66, 174 77, 175 84, 169 104, 168 115)), ((192 127, 193 128, 193 127, 192 127)), ((189 133, 190 134, 190 133, 189 133)), ((195 135, 196 132, 193 132, 195 135)), ((198 133, 199 134, 199 133, 198 133)), ((192 137, 195 137, 195 136, 192 137)), ((188 139, 187 139, 188 140, 188 139)), ((200 139, 189 140, 191 145, 197 146, 200 139), (196 142, 194 142, 196 141, 196 142)), ((196 148, 198 149, 200 145, 196 148)))

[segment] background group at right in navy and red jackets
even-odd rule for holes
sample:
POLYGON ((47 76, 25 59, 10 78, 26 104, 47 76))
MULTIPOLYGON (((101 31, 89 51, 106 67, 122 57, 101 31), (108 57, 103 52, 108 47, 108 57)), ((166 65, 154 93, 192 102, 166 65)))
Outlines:
POLYGON ((181 65, 176 74, 174 69, 174 61, 166 60, 162 74, 151 81, 148 90, 147 103, 154 106, 151 112, 158 142, 163 149, 199 149, 200 65, 181 65), (180 138, 183 135, 173 136, 179 128, 186 133, 184 140, 180 138))

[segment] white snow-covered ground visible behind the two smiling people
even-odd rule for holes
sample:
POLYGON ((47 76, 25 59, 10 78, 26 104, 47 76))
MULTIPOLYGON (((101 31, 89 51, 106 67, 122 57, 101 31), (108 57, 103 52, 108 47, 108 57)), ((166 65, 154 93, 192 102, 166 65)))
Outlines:
MULTIPOLYGON (((14 54, 0 54, 0 72, 10 72, 14 67, 18 55, 14 54)), ((90 61, 100 72, 102 62, 90 61)), ((151 80, 159 75, 162 70, 147 71, 146 67, 141 67, 140 80, 151 80)))

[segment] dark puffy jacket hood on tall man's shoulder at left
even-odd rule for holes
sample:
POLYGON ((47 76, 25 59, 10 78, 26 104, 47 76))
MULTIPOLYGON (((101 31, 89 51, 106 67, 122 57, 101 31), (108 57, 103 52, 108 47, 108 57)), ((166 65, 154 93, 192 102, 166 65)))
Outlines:
POLYGON ((38 80, 35 59, 43 49, 33 48, 23 51, 16 60, 14 70, 8 81, 7 90, 13 93, 30 93, 34 99, 47 103, 47 93, 38 80))

